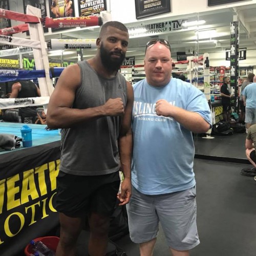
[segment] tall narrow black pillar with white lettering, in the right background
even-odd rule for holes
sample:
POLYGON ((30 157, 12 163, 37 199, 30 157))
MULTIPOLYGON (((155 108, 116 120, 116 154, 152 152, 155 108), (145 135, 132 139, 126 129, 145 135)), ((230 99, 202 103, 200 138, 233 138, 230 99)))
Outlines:
POLYGON ((230 23, 230 88, 234 88, 234 111, 238 110, 239 22, 230 23))

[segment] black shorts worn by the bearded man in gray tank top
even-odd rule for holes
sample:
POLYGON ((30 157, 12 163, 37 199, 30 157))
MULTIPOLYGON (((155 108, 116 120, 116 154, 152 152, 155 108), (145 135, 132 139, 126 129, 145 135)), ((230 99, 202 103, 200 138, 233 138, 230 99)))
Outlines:
POLYGON ((119 172, 99 176, 78 176, 59 172, 54 205, 58 212, 82 218, 90 212, 111 216, 120 186, 119 172))

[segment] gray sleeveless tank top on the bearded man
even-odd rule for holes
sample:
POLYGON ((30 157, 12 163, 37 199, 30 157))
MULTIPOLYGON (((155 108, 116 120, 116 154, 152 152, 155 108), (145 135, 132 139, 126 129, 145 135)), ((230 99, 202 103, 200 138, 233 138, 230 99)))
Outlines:
MULTIPOLYGON (((84 60, 78 63, 81 85, 73 109, 94 108, 110 98, 127 101, 125 78, 117 72, 110 79, 99 76, 84 60)), ((107 116, 81 123, 61 132, 60 170, 73 175, 105 175, 119 169, 117 139, 122 116, 107 116)))

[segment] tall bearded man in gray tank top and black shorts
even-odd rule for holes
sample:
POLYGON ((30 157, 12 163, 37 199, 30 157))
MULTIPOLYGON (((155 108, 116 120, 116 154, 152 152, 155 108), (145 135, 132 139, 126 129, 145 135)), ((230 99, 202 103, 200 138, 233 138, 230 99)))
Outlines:
POLYGON ((105 255, 110 217, 131 197, 133 88, 118 72, 129 40, 119 22, 105 23, 97 53, 67 67, 51 95, 47 124, 61 128, 60 172, 55 208, 60 218, 56 255, 75 255, 88 214, 89 254, 105 255), (118 193, 119 169, 124 174, 118 193))

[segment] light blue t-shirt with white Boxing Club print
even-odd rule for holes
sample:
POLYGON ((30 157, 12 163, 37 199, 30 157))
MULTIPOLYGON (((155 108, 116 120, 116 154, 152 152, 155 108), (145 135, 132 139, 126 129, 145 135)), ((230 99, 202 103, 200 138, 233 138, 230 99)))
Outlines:
POLYGON ((197 112, 209 124, 211 113, 204 94, 195 86, 172 78, 166 86, 134 84, 132 184, 146 195, 160 195, 195 186, 193 136, 171 117, 157 116, 156 101, 197 112))

